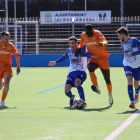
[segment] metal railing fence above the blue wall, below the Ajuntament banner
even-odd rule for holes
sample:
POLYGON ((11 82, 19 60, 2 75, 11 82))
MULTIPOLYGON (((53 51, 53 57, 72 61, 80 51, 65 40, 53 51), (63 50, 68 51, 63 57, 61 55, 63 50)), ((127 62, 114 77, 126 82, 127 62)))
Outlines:
MULTIPOLYGON (((86 21, 93 25, 94 29, 100 30, 108 41, 106 50, 109 53, 122 53, 121 43, 117 38, 116 30, 126 26, 130 36, 140 39, 140 17, 112 17, 110 23, 96 23, 86 21), (123 21, 123 22, 122 22, 123 21)), ((5 19, 0 18, 0 31, 4 30, 5 19)), ((81 23, 66 24, 40 24, 39 18, 18 18, 20 22, 15 26, 14 18, 8 19, 8 31, 11 34, 10 41, 16 44, 21 54, 62 54, 69 47, 68 38, 74 34, 80 41, 80 34, 84 31, 85 21, 81 23), (27 22, 28 21, 28 22, 27 22), (29 22, 32 22, 29 24, 29 22), (38 27, 33 21, 38 21, 38 27), (25 22, 25 24, 24 24, 25 22), (74 26, 73 26, 74 25, 74 26), (15 31, 17 27, 17 39, 15 31), (17 40, 17 42, 16 42, 17 40)))

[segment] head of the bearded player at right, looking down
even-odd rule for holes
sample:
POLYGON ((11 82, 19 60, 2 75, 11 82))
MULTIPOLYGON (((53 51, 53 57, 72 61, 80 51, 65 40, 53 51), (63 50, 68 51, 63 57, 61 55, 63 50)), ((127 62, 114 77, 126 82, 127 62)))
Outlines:
POLYGON ((121 40, 122 42, 125 42, 126 41, 126 37, 128 37, 128 31, 127 29, 123 26, 123 27, 120 27, 117 31, 117 36, 118 36, 118 39, 121 40))

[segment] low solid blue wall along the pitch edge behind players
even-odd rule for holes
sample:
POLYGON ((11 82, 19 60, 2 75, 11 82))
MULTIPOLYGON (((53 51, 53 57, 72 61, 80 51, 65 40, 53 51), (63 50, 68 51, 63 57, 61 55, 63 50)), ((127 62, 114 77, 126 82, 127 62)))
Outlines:
MULTIPOLYGON (((110 67, 122 67, 123 54, 113 53, 110 54, 109 65, 110 67)), ((20 66, 21 67, 48 67, 50 61, 55 61, 60 58, 62 54, 24 54, 20 55, 20 66)), ((12 66, 16 67, 16 60, 14 55, 12 55, 12 66)), ((69 59, 59 63, 56 67, 66 67, 69 66, 69 59)))

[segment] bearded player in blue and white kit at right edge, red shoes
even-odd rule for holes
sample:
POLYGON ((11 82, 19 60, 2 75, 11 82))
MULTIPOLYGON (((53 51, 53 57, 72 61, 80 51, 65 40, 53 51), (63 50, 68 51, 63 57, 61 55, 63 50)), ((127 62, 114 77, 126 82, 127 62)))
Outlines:
POLYGON ((139 100, 140 81, 140 41, 135 37, 129 37, 125 27, 117 31, 118 39, 124 49, 124 71, 128 81, 128 94, 131 100, 130 108, 135 109, 135 104, 139 100), (135 99, 133 97, 133 78, 135 87, 135 99))

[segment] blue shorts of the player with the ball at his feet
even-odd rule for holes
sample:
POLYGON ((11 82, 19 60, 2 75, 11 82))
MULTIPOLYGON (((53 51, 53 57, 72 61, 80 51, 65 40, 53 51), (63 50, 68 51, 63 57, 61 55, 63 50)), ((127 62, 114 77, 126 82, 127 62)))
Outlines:
POLYGON ((75 87, 75 80, 79 78, 81 79, 81 85, 86 80, 87 74, 85 71, 73 71, 68 74, 66 84, 70 84, 72 87, 75 87))

